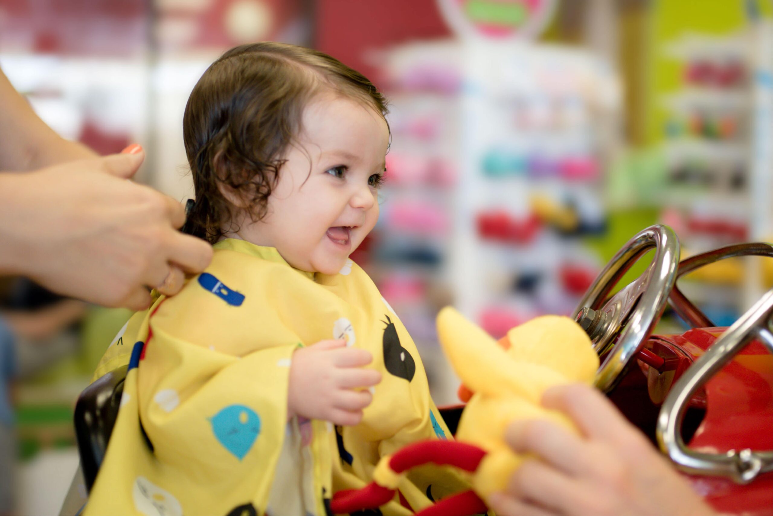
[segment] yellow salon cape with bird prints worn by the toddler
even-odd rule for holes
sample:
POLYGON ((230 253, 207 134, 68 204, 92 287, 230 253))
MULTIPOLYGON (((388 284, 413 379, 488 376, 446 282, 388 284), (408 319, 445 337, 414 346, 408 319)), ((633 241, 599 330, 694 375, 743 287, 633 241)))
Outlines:
MULTIPOLYGON (((381 456, 451 439, 413 340, 351 260, 337 275, 292 268, 274 248, 227 239, 172 298, 135 313, 95 378, 129 364, 121 408, 84 514, 325 514, 371 480, 381 456), (293 351, 345 338, 382 381, 363 421, 288 421, 293 351)), ((468 489, 455 471, 414 470, 414 511, 468 489)), ((409 514, 393 501, 383 514, 409 514)))

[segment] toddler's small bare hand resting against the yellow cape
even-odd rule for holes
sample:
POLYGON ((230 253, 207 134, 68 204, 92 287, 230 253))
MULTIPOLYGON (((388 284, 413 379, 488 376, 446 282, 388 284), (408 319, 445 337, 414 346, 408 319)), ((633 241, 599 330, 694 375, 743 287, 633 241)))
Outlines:
POLYGON ((290 366, 288 416, 356 425, 373 395, 354 389, 381 381, 379 371, 362 368, 371 361, 369 352, 346 347, 346 340, 321 340, 296 350, 290 366))

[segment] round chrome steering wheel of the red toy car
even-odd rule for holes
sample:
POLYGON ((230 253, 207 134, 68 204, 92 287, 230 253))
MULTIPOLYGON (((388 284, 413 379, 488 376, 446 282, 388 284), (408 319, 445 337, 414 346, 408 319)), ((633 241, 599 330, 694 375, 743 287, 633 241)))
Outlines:
POLYGON ((644 346, 666 308, 678 267, 679 239, 670 227, 657 224, 629 240, 585 292, 572 316, 591 337, 594 350, 607 354, 594 382, 601 391, 615 387, 644 346), (625 272, 652 248, 655 257, 645 272, 607 300, 625 272))

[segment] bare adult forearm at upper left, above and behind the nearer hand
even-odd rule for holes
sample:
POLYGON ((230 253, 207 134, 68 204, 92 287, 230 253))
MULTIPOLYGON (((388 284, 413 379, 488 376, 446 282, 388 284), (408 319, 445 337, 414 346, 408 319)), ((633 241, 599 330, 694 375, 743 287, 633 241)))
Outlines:
POLYGON ((95 155, 49 128, 0 70, 0 170, 34 170, 95 155))

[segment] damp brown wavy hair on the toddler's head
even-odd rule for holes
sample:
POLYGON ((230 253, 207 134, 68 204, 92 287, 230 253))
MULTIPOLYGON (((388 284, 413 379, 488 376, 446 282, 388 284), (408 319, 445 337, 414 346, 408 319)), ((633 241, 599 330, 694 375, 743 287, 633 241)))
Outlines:
POLYGON ((303 109, 321 91, 388 113, 386 98, 362 73, 302 46, 237 46, 206 69, 182 118, 196 192, 186 232, 211 244, 223 237, 233 204, 221 186, 237 196, 252 220, 266 216, 284 153, 302 130, 303 109))

